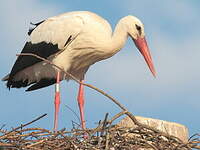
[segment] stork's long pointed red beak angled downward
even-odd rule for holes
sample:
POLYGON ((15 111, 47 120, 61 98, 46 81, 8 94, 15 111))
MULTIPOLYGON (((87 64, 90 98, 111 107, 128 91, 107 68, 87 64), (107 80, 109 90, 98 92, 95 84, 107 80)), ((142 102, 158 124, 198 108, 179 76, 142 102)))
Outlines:
POLYGON ((156 77, 156 71, 153 65, 153 61, 151 58, 151 54, 146 42, 145 37, 144 38, 138 38, 138 39, 133 39, 135 45, 137 48, 140 50, 141 54, 143 55, 147 65, 149 66, 150 71, 152 72, 153 76, 156 77))

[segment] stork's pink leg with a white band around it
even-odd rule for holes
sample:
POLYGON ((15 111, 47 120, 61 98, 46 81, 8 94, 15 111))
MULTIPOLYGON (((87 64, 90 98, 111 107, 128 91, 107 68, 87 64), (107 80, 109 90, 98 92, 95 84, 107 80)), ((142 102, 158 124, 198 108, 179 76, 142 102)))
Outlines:
POLYGON ((56 84, 55 84, 55 114, 54 114, 54 131, 58 129, 58 112, 60 108, 60 72, 57 73, 56 84))

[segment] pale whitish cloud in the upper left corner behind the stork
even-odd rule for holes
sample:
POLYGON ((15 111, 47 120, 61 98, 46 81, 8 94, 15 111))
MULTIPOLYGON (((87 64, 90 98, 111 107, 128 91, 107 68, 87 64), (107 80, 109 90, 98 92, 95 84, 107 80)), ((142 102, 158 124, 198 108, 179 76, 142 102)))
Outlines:
POLYGON ((9 57, 21 51, 26 39, 30 22, 39 22, 56 15, 59 9, 37 0, 4 0, 0 5, 1 38, 7 48, 3 52, 9 57))

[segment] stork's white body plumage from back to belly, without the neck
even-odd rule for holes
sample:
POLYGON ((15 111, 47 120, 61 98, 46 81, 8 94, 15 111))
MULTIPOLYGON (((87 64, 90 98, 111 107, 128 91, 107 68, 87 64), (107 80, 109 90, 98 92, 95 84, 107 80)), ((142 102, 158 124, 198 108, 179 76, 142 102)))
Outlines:
POLYGON ((32 43, 58 44, 63 52, 53 62, 78 79, 91 64, 109 57, 111 37, 108 22, 91 12, 70 12, 51 17, 30 35, 32 43), (66 44, 69 38, 71 41, 66 44))

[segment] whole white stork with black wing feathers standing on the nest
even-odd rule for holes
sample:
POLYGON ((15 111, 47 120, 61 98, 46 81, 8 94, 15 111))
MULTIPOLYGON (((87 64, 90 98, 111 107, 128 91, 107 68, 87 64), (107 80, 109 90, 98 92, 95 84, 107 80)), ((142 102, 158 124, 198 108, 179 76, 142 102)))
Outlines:
MULTIPOLYGON (((155 76, 152 58, 145 40, 144 26, 134 16, 122 18, 114 32, 102 17, 88 11, 75 11, 48 18, 34 24, 29 30, 21 53, 33 53, 52 61, 82 83, 90 65, 116 54, 130 36, 144 56, 150 71, 155 76)), ((57 130, 60 105, 59 81, 71 78, 56 67, 33 56, 19 56, 10 74, 2 80, 7 87, 28 87, 26 91, 56 85, 54 130, 57 130)), ((85 129, 84 92, 80 84, 78 93, 81 126, 85 129)))

